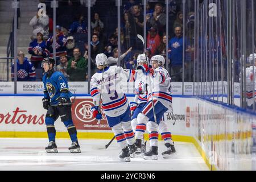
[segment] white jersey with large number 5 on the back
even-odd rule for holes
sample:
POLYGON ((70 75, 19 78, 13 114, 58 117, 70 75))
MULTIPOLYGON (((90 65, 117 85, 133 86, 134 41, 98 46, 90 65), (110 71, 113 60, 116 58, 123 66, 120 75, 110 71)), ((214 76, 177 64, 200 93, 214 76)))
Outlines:
POLYGON ((122 67, 112 66, 98 71, 92 76, 90 94, 94 105, 98 106, 101 94, 101 108, 109 117, 117 117, 127 110, 128 102, 122 90, 122 83, 134 81, 135 71, 125 71, 122 67))

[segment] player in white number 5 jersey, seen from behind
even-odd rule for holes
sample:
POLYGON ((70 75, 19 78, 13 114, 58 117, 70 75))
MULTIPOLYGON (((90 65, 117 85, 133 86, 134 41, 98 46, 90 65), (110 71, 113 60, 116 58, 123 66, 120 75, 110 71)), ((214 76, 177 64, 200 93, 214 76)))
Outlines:
POLYGON ((99 112, 100 94, 102 94, 101 108, 104 110, 108 125, 112 128, 122 149, 119 158, 125 162, 130 162, 130 152, 134 154, 137 147, 131 127, 130 107, 121 88, 121 82, 127 81, 127 72, 116 65, 108 67, 108 58, 104 53, 96 56, 96 65, 98 72, 92 76, 90 81, 90 94, 94 102, 94 106, 91 108, 93 117, 102 119, 99 112))

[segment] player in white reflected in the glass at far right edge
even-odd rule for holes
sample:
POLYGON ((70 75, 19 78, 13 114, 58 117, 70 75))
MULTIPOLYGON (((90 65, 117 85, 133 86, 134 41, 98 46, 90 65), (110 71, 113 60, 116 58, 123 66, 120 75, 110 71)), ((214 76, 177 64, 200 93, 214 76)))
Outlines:
MULTIPOLYGON (((255 102, 255 98, 253 98, 253 92, 255 92, 256 96, 256 82, 255 84, 253 83, 253 81, 256 81, 256 78, 253 78, 256 76, 256 53, 251 54, 249 56, 249 60, 251 64, 254 64, 254 68, 253 65, 246 68, 246 102, 247 102, 247 106, 250 109, 253 109, 253 102, 255 102), (254 80, 253 80, 254 79, 254 80)), ((256 107, 256 102, 255 102, 255 107, 256 107)))

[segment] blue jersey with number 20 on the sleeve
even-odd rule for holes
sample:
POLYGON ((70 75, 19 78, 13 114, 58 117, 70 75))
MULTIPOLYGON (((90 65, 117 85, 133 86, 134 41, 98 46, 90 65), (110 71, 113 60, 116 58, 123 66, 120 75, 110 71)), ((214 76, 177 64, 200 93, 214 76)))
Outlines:
POLYGON ((51 77, 48 74, 43 76, 44 98, 49 98, 51 104, 58 104, 58 99, 64 97, 66 99, 73 96, 68 90, 68 81, 61 72, 53 72, 51 77), (61 92, 68 90, 68 92, 61 92))

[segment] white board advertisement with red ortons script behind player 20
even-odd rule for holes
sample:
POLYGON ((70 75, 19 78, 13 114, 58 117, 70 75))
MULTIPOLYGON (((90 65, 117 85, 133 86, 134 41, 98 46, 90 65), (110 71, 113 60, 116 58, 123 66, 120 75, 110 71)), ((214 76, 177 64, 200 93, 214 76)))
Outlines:
MULTIPOLYGON (((0 97, 0 131, 46 131, 42 97, 0 97)), ((67 131, 60 118, 57 131, 67 131)))

